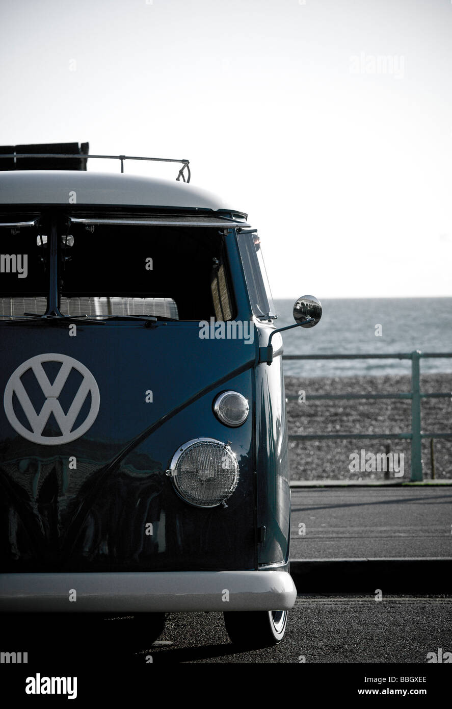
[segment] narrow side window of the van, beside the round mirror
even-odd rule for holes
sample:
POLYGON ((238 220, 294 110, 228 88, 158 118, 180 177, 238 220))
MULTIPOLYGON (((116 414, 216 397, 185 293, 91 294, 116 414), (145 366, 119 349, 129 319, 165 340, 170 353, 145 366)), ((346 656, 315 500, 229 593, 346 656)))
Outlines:
POLYGON ((239 234, 239 250, 254 315, 257 318, 276 318, 262 257, 261 242, 257 233, 239 234))

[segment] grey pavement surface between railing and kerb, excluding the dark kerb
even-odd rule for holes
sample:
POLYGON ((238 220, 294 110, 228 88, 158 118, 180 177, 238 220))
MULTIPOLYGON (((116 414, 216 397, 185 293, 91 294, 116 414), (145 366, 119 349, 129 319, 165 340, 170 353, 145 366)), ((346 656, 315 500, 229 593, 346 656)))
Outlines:
POLYGON ((452 486, 292 489, 293 559, 452 557, 451 531, 452 486))

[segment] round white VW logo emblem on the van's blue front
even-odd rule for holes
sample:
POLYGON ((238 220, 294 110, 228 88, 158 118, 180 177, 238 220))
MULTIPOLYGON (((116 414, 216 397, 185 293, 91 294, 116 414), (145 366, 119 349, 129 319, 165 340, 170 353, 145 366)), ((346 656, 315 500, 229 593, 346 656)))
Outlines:
POLYGON ((11 374, 4 393, 5 413, 13 429, 27 440, 33 441, 33 443, 40 443, 41 445, 61 445, 62 443, 69 443, 84 435, 96 420, 100 403, 101 396, 97 382, 89 369, 87 369, 84 364, 81 364, 81 362, 78 362, 77 359, 68 357, 67 354, 55 354, 55 352, 50 354, 37 354, 35 357, 31 357, 27 359, 26 362, 23 362, 23 364, 20 364, 15 372, 11 374), (45 373, 43 367, 43 363, 45 362, 61 363, 60 371, 53 384, 50 384, 49 378, 45 373), (43 408, 41 408, 39 413, 36 413, 35 407, 33 403, 31 403, 30 396, 28 396, 21 380, 21 376, 28 372, 28 369, 33 370, 43 395, 45 396, 43 408), (76 369, 83 379, 69 407, 69 411, 64 413, 60 401, 58 401, 58 397, 72 369, 76 369), (81 407, 84 405, 89 393, 91 393, 91 408, 89 413, 84 422, 81 423, 78 428, 72 430, 77 416, 81 411, 81 407), (22 425, 18 420, 13 406, 13 394, 16 394, 31 430, 22 425), (43 436, 43 430, 51 413, 53 413, 60 427, 61 435, 43 436))

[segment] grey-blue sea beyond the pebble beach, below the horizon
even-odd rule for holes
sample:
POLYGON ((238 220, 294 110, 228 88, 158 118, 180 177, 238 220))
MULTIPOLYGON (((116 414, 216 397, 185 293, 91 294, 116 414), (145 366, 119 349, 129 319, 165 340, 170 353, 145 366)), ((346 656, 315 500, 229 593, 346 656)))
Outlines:
MULTIPOLYGON (((277 327, 291 325, 293 300, 274 299, 277 327)), ((281 333, 284 354, 452 353, 452 298, 334 298, 314 328, 281 333)), ((286 376, 409 374, 409 359, 285 360, 286 376)), ((452 357, 421 359, 421 374, 451 373, 452 357)))

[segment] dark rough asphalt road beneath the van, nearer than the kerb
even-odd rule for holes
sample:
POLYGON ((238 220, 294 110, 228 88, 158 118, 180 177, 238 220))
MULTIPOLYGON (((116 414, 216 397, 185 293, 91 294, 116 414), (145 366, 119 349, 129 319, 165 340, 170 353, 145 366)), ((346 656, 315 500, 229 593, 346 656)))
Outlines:
MULTIPOLYGON (((452 650, 452 598, 439 596, 298 596, 276 647, 237 652, 221 613, 171 613, 155 664, 174 662, 426 663, 452 650)), ((134 662, 144 654, 134 655, 134 662)))

